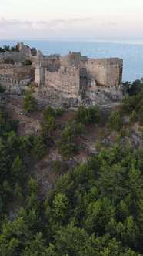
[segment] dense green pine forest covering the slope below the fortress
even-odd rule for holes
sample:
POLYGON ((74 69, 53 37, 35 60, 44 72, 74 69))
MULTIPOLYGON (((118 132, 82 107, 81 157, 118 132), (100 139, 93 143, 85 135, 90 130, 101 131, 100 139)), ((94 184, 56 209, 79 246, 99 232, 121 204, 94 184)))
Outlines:
MULTIPOLYGON (((98 123, 117 131, 113 147, 97 141, 97 153, 64 169, 43 196, 29 168, 52 147, 51 132, 60 128, 56 120, 62 109, 46 106, 42 133, 19 136, 18 121, 1 107, 0 255, 143 255, 143 147, 131 143, 123 119, 128 115, 129 126, 138 122, 143 131, 143 83, 124 85, 128 95, 106 120, 98 106, 79 107, 56 142, 65 159, 72 157, 81 150, 76 138, 86 123, 98 123)), ((24 107, 29 105, 36 105, 31 94, 25 95, 24 107)), ((60 171, 62 163, 55 163, 55 169, 60 171)))

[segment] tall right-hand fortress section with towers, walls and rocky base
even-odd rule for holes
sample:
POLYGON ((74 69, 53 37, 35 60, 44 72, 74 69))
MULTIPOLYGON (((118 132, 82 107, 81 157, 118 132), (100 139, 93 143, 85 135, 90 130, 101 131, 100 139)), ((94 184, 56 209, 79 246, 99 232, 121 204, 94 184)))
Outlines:
POLYGON ((118 86, 122 78, 122 59, 85 59, 80 52, 70 52, 60 58, 60 64, 63 66, 58 72, 41 66, 35 69, 35 82, 40 85, 43 81, 47 95, 98 105, 122 99, 123 91, 118 86))

